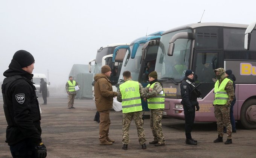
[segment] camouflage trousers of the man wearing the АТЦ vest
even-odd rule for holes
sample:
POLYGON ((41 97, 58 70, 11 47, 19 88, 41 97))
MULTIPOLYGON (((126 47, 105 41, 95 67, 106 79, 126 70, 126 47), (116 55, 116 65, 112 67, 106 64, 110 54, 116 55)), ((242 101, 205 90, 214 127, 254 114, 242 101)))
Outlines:
POLYGON ((141 111, 136 111, 136 112, 129 112, 129 113, 123 113, 123 144, 129 144, 130 139, 129 139, 129 129, 130 129, 130 124, 131 121, 134 119, 136 128, 137 128, 137 133, 139 137, 139 143, 140 145, 146 143, 145 139, 145 131, 143 129, 143 124, 144 121, 142 120, 142 113, 141 111))

